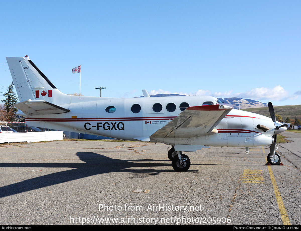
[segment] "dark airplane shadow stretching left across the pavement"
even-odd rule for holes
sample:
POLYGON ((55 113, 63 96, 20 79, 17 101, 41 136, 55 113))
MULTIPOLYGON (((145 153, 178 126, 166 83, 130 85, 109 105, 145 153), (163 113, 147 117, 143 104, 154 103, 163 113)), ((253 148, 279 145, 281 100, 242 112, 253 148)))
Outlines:
MULTIPOLYGON (((132 173, 158 173, 158 170, 145 169, 142 167, 171 167, 168 160, 159 160, 166 163, 150 163, 149 159, 138 160, 119 160, 106 157, 94 152, 78 152, 76 154, 81 161, 85 163, 2 163, 0 167, 26 167, 26 168, 73 168, 61 172, 51 173, 45 176, 38 176, 31 179, 23 180, 18 183, 0 187, 0 197, 10 196, 21 192, 27 192, 75 179, 81 179, 87 176, 98 175, 110 172, 132 172, 132 173), (137 163, 138 162, 138 163, 137 163), (146 163, 139 163, 146 162, 146 163), (148 162, 148 163, 147 163, 148 162), (128 169, 135 167, 135 169, 128 169)), ((170 170, 160 170, 159 172, 172 172, 170 170)))

